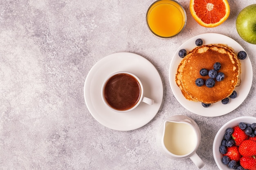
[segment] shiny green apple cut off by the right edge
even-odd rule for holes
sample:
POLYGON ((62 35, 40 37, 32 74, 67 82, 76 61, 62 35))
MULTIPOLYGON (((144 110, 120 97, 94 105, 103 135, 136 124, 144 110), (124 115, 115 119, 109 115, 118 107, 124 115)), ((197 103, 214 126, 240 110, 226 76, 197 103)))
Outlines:
POLYGON ((240 11, 236 18, 236 30, 243 40, 256 44, 256 4, 240 11))

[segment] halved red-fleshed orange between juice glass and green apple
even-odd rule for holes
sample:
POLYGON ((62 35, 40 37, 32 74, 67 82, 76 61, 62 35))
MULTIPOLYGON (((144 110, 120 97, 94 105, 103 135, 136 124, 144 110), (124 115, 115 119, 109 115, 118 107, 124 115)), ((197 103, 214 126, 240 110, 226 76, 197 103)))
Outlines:
POLYGON ((190 0, 191 15, 204 27, 215 27, 229 17, 230 8, 227 0, 190 0))

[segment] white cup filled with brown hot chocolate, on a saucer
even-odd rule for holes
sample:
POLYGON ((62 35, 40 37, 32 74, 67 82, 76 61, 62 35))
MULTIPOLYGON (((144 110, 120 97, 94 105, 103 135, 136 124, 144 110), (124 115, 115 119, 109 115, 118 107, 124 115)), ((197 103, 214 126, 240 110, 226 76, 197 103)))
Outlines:
POLYGON ((120 113, 135 109, 141 102, 154 104, 153 99, 144 96, 139 78, 126 71, 109 75, 103 83, 101 96, 106 106, 120 113))

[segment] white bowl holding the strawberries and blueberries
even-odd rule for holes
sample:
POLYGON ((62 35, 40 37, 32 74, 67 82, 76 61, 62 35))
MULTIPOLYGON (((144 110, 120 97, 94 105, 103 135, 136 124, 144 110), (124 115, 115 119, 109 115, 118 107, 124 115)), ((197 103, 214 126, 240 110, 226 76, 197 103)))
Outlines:
POLYGON ((227 165, 222 163, 221 161, 222 154, 220 153, 219 149, 220 149, 221 141, 225 135, 226 129, 233 128, 234 126, 238 126, 240 122, 245 122, 248 124, 256 123, 256 117, 243 116, 243 117, 237 117, 235 119, 232 119, 228 121, 226 124, 224 124, 215 136, 215 139, 213 141, 213 157, 220 170, 232 170, 227 165))

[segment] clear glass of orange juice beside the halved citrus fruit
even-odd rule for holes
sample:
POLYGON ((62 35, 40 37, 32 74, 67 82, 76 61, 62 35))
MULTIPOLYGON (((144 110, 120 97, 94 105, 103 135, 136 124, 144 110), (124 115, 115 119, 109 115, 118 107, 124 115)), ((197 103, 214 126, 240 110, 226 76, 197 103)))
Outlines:
POLYGON ((186 25, 186 11, 175 0, 157 0, 146 14, 149 30, 160 38, 172 38, 186 25))

